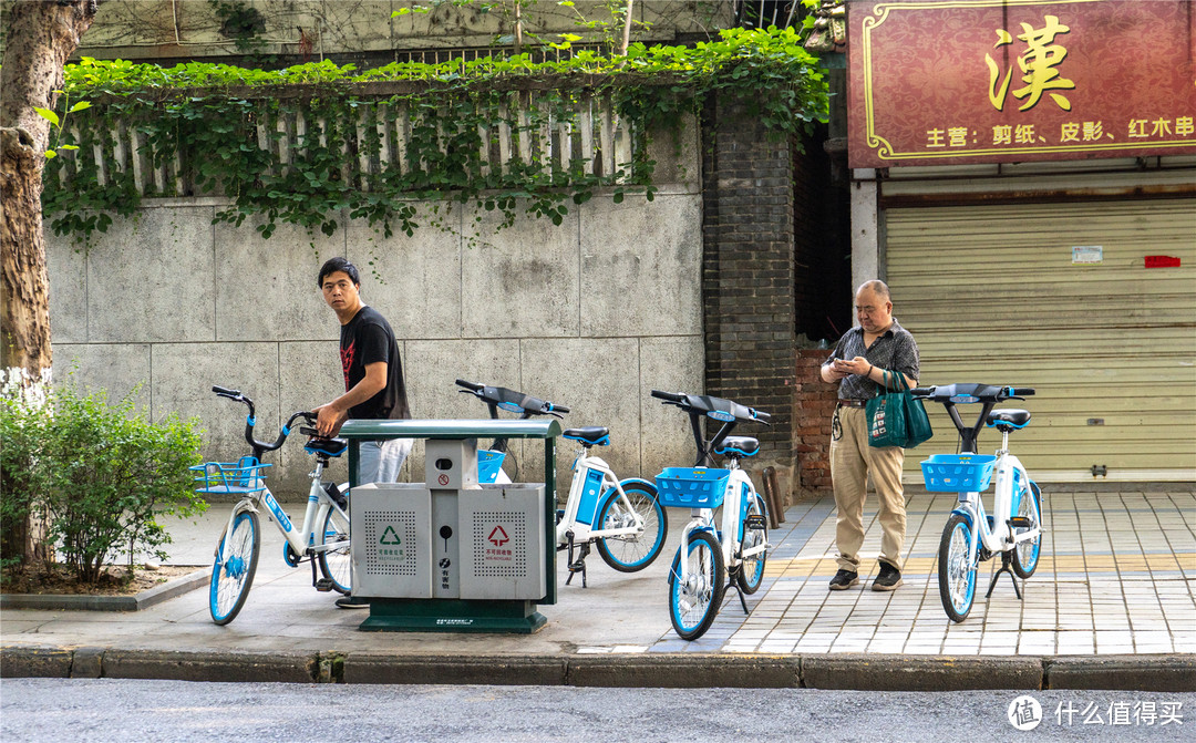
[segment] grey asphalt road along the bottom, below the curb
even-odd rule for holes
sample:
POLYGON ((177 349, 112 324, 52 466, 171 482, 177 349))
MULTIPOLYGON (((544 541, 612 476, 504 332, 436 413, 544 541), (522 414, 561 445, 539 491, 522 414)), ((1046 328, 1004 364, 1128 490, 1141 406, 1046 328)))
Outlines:
POLYGON ((329 686, 5 678, 0 739, 1192 741, 1196 694, 329 686), (1019 704, 1013 719, 1026 725, 1019 704))

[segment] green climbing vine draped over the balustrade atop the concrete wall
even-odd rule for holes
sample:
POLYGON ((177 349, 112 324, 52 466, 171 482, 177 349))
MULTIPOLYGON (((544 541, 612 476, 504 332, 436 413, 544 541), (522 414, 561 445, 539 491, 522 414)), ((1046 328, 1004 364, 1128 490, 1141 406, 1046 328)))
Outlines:
POLYGON ((722 31, 691 48, 633 44, 617 59, 579 51, 559 62, 518 55, 366 72, 327 61, 266 72, 84 59, 66 79, 71 99, 92 105, 62 132, 80 150, 47 163, 43 208, 57 233, 81 239, 132 214, 142 194, 224 195, 231 205, 216 219, 255 218, 263 237, 280 223, 331 235, 342 214, 413 235, 426 200, 498 211, 500 227, 520 213, 560 224, 598 189, 651 199, 651 136, 676 130, 712 95, 740 96, 776 136, 826 115, 817 60, 776 29, 722 31), (545 139, 603 97, 630 133, 627 162, 603 172, 584 157, 547 157, 545 139), (507 142, 500 163, 500 129, 537 146, 507 142), (172 177, 147 175, 164 165, 172 177))

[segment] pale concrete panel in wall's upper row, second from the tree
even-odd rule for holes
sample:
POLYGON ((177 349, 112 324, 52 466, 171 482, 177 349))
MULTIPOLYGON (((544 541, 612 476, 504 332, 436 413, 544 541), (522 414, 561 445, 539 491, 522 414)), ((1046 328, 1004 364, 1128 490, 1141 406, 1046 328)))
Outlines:
POLYGON ((215 337, 210 207, 147 208, 87 251, 87 340, 215 337))

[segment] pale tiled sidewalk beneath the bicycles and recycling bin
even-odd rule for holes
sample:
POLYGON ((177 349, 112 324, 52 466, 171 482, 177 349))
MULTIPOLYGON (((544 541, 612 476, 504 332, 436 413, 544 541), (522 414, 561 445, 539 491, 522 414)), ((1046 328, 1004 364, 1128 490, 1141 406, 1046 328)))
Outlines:
MULTIPOLYGON (((935 554, 951 494, 908 491, 904 585, 868 590, 879 552, 875 512, 868 524, 858 589, 830 592, 835 572, 834 504, 798 504, 771 535, 765 581, 745 616, 734 592, 700 640, 673 634, 666 574, 687 518, 670 512, 672 534, 661 558, 642 573, 616 573, 594 555, 588 587, 565 585, 541 611, 533 635, 365 633, 361 610, 338 610, 317 593, 307 566, 287 568, 282 542, 263 529, 258 575, 242 614, 216 627, 207 591, 197 590, 129 614, 5 610, 4 647, 102 647, 213 652, 327 651, 403 654, 749 654, 848 653, 897 656, 1152 656, 1196 653, 1196 493, 1191 489, 1051 492, 1044 497, 1045 538, 1024 601, 1002 575, 986 599, 994 561, 982 568, 969 619, 950 622, 939 603, 935 554)), ((203 565, 227 516, 213 505, 197 523, 170 526, 172 562, 203 565)), ((264 526, 264 524, 263 524, 264 526)))

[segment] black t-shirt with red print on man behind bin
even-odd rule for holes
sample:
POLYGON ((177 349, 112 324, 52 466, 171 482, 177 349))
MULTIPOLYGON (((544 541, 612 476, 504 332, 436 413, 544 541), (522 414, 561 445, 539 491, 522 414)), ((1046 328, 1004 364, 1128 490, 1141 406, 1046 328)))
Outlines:
POLYGON ((350 419, 407 419, 407 385, 398 343, 390 323, 373 307, 362 305, 347 324, 341 325, 341 369, 344 391, 366 378, 366 366, 386 361, 386 386, 361 404, 349 408, 350 419))

